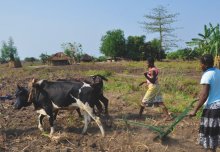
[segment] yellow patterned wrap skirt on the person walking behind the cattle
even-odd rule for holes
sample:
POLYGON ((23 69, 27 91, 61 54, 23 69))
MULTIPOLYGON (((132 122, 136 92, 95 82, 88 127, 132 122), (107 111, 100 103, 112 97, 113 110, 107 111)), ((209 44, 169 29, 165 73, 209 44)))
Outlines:
POLYGON ((142 99, 142 105, 147 107, 154 105, 158 106, 158 104, 161 102, 163 102, 163 98, 159 84, 149 84, 147 92, 142 99))

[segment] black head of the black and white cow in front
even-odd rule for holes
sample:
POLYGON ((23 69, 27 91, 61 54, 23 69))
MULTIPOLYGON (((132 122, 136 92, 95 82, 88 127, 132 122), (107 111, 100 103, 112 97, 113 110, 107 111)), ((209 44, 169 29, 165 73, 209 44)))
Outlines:
POLYGON ((21 109, 22 107, 26 107, 30 105, 28 103, 29 92, 25 87, 17 85, 17 89, 15 91, 16 101, 14 104, 15 109, 21 109))

